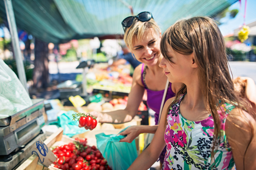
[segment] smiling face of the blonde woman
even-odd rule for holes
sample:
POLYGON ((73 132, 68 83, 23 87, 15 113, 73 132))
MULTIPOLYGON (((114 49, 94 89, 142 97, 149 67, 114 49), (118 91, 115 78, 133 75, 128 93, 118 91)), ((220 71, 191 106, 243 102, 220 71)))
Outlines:
POLYGON ((148 66, 156 65, 161 55, 160 40, 161 34, 157 34, 153 29, 147 29, 140 41, 134 40, 131 51, 138 61, 148 66))

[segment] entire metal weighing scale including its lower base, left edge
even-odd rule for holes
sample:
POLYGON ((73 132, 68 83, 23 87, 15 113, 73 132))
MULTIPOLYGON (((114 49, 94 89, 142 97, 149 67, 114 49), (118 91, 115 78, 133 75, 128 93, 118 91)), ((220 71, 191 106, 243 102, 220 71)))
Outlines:
POLYGON ((43 118, 44 99, 31 99, 33 105, 7 118, 0 119, 0 169, 11 170, 28 154, 39 139, 45 125, 43 118))

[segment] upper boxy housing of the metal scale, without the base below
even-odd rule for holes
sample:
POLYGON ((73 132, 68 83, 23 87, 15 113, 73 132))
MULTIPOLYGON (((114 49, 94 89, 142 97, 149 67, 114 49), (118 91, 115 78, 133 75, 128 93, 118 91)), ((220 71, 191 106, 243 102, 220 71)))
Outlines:
POLYGON ((18 150, 40 133, 45 124, 43 100, 32 99, 32 106, 0 119, 0 156, 18 150))

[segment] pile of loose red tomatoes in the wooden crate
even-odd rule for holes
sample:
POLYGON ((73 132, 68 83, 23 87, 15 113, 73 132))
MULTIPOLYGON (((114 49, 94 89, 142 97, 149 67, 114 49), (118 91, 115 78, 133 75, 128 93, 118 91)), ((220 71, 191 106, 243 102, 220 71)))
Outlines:
POLYGON ((54 167, 62 170, 111 170, 96 146, 88 146, 86 139, 57 146, 52 152, 58 157, 54 167))

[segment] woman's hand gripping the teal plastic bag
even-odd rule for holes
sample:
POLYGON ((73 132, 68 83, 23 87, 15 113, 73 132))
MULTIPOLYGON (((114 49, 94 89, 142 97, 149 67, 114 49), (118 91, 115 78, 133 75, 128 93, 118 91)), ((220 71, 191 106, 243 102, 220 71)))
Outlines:
POLYGON ((121 139, 120 142, 132 143, 132 141, 139 136, 140 126, 130 126, 125 131, 119 133, 118 135, 127 135, 125 138, 121 139))

